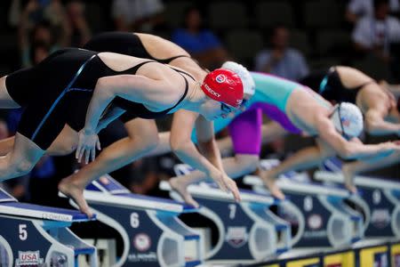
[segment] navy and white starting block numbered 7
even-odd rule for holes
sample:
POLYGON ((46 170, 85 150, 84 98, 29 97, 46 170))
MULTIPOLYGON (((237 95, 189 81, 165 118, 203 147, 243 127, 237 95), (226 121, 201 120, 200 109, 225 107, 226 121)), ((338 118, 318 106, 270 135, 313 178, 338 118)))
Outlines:
MULTIPOLYGON (((192 170, 183 164, 175 166, 176 174, 192 170)), ((160 187, 171 190, 168 182, 162 182, 160 187)), ((188 191, 201 205, 198 213, 212 220, 218 229, 217 244, 205 252, 208 263, 251 263, 290 249, 290 224, 269 211, 276 199, 241 190, 242 201, 236 203, 210 183, 190 185, 188 191)), ((172 190, 170 195, 180 199, 172 190)))

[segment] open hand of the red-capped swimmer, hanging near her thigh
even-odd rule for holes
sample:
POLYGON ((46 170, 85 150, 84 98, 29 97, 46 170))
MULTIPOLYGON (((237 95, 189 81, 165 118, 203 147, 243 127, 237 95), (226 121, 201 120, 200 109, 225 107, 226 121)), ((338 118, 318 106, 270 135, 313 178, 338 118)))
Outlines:
POLYGON ((76 149, 75 157, 80 163, 84 158, 84 163, 89 163, 89 158, 91 161, 96 157, 96 148, 100 150, 99 136, 90 130, 82 129, 78 133, 78 145, 76 149))

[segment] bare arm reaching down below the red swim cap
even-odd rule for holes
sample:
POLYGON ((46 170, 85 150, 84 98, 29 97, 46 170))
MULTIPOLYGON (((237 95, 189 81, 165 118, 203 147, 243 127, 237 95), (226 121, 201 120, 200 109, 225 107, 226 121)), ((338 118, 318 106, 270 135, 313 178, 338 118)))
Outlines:
MULTIPOLYGON (((204 158, 202 154, 196 149, 196 145, 191 141, 191 134, 193 126, 195 125, 198 114, 192 112, 192 116, 182 116, 188 110, 179 110, 174 114, 171 128, 171 148, 172 151, 180 158, 182 162, 193 166, 197 170, 203 172, 208 177, 218 182, 222 190, 230 190, 236 200, 240 200, 239 190, 237 189, 236 182, 228 177, 223 171, 220 159, 220 150, 216 144, 212 142, 213 149, 209 153, 214 154, 214 165, 204 158), (185 125, 185 127, 182 127, 185 125), (188 127, 188 125, 191 125, 188 127), (216 155, 215 155, 216 154, 216 155)), ((208 155, 210 157, 210 155, 208 155)))

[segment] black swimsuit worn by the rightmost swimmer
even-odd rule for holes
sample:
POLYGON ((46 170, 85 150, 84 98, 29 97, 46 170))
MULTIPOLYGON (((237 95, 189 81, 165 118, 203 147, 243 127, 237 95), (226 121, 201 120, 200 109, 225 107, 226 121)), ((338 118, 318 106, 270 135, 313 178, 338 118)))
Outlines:
POLYGON ((370 85, 372 83, 376 82, 371 80, 354 88, 348 88, 342 84, 339 73, 334 67, 328 71, 315 72, 300 80, 301 85, 307 85, 328 101, 350 103, 356 103, 357 93, 360 92, 365 85, 370 85))

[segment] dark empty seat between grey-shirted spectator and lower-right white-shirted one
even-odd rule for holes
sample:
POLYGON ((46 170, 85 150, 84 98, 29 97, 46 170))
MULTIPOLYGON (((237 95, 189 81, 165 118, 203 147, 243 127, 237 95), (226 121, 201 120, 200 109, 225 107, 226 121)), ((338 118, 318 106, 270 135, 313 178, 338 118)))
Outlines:
POLYGON ((320 55, 338 54, 351 49, 351 36, 346 30, 320 30, 316 33, 316 50, 320 55))

